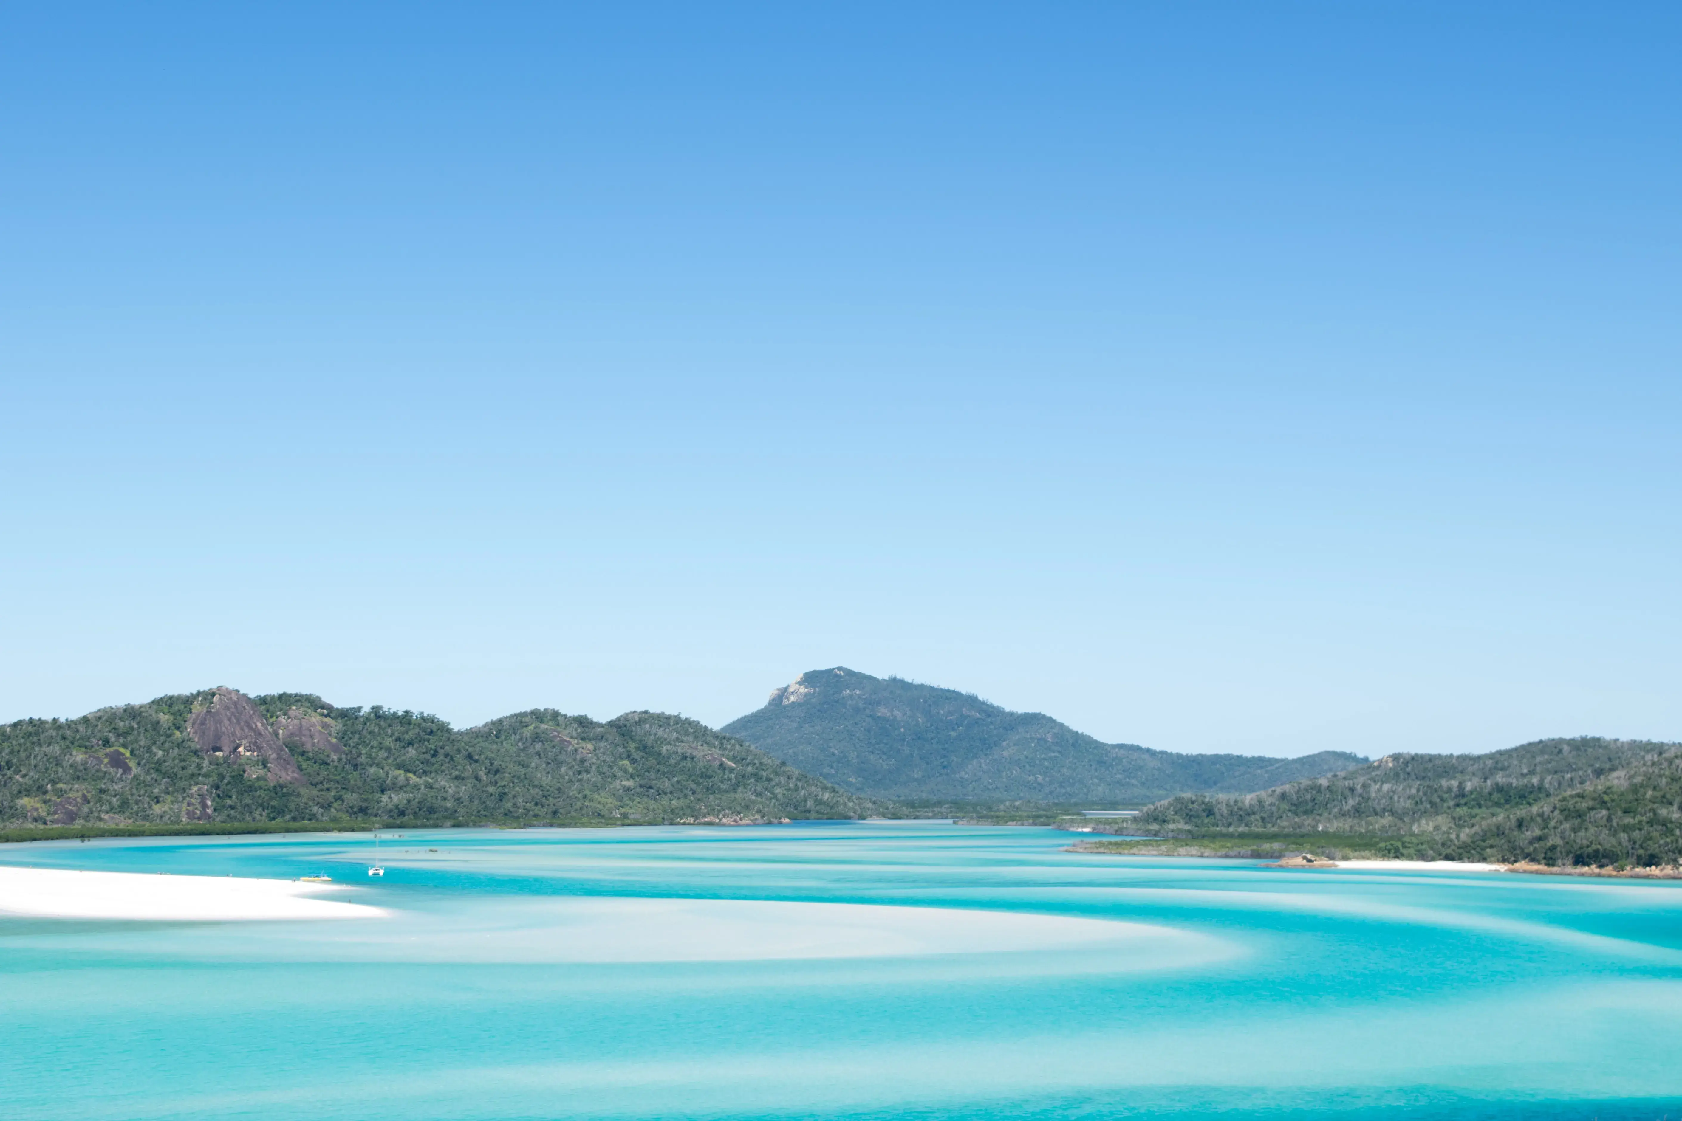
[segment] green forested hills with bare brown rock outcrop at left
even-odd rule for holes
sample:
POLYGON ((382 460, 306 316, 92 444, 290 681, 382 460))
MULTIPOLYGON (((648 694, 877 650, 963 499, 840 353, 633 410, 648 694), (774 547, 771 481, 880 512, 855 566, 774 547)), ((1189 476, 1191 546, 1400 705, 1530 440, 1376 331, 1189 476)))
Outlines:
POLYGON ((0 825, 777 820, 870 803, 703 724, 419 713, 232 689, 0 726, 0 825))

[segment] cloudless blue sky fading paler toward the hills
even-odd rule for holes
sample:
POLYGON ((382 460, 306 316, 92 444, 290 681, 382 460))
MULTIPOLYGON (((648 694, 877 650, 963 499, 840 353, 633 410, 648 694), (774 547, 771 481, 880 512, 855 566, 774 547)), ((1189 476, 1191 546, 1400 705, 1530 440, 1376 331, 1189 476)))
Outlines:
POLYGON ((8 5, 0 719, 1682 739, 1682 7, 8 5))

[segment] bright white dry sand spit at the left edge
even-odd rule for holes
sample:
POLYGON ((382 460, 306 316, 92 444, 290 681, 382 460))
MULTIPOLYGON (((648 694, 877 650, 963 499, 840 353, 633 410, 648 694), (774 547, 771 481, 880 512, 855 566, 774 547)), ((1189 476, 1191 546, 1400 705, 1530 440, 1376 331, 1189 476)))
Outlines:
POLYGON ((367 919, 382 908, 313 899, 341 884, 0 866, 0 916, 62 919, 367 919))

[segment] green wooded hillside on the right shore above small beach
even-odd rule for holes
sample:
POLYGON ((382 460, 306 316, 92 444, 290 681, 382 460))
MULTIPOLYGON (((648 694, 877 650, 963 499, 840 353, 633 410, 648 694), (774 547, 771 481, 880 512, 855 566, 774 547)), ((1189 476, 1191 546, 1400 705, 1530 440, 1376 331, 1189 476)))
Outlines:
POLYGON ((1542 739, 1489 755, 1391 755, 1246 797, 1182 795, 1129 829, 1374 839, 1384 855, 1554 867, 1682 862, 1682 745, 1542 739))

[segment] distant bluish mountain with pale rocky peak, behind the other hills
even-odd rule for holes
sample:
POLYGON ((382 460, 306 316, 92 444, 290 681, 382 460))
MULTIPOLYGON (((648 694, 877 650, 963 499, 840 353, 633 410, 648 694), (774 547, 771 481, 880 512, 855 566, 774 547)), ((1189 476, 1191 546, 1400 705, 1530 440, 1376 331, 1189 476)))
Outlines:
POLYGON ((1102 743, 1039 713, 851 669, 816 669, 723 731, 878 798, 1144 805, 1182 792, 1245 793, 1366 760, 1176 755, 1102 743))

